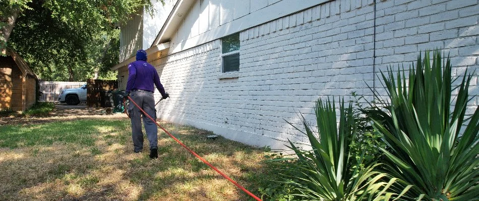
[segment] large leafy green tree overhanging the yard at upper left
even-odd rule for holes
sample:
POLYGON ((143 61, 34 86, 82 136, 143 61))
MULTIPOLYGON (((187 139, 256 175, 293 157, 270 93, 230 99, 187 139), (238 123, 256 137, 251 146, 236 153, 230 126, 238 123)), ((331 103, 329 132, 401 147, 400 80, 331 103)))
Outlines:
POLYGON ((143 8, 154 15, 149 0, 3 0, 0 49, 15 49, 43 80, 111 75, 119 54, 114 24, 143 8))

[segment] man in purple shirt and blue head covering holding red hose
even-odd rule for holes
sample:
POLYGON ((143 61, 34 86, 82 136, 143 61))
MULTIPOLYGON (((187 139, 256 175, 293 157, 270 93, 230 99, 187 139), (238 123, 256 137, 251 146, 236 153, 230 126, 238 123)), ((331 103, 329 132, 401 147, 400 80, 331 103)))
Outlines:
MULTIPOLYGON (((153 84, 156 85, 163 99, 169 97, 169 94, 165 92, 155 67, 147 62, 145 50, 137 51, 136 61, 128 65, 128 71, 127 89, 124 97, 128 98, 130 96, 143 111, 156 120, 155 98, 153 96, 155 88, 153 84)), ((128 112, 132 121, 133 151, 139 153, 143 150, 142 112, 134 104, 129 104, 128 112)), ((158 158, 158 128, 155 122, 152 122, 146 115, 143 115, 143 124, 150 142, 150 158, 158 158)))

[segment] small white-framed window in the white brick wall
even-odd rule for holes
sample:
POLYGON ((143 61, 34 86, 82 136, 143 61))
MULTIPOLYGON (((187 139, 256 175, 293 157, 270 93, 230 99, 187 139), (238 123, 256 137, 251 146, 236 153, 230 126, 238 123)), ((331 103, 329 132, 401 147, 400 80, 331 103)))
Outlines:
POLYGON ((239 33, 221 39, 223 72, 239 71, 239 33))

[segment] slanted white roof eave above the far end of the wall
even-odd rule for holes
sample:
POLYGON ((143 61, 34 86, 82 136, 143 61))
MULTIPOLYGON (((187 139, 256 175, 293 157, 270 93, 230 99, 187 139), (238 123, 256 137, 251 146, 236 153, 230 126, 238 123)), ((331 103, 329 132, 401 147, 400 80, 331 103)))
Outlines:
POLYGON ((178 0, 151 46, 170 41, 178 26, 183 23, 183 20, 188 15, 188 11, 195 2, 195 0, 178 0))

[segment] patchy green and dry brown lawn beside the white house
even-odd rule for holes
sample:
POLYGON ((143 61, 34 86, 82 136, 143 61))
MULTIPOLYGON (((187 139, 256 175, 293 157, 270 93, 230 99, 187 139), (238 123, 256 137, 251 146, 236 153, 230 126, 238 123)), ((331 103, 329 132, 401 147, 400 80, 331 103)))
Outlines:
MULTIPOLYGON (((260 196, 268 169, 262 149, 160 124, 260 196)), ((0 126, 0 200, 253 200, 161 130, 158 148, 157 160, 147 148, 133 153, 126 118, 0 126)))

